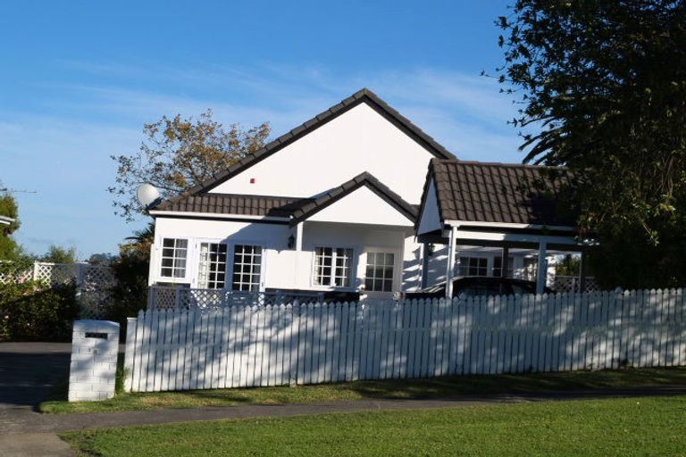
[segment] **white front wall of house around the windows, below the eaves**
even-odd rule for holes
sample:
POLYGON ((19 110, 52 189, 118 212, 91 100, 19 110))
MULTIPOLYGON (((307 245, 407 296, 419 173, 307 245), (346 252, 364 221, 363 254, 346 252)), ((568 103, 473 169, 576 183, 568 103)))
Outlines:
MULTIPOLYGON (((373 195, 378 198, 376 195, 373 195)), ((400 216, 385 202, 384 208, 392 210, 393 217, 400 216)), ((329 209, 329 208, 327 208, 329 209)), ((323 210, 323 211, 326 211, 323 210)), ((336 210, 338 211, 338 210, 336 210)), ((402 217, 402 216, 400 216, 402 217)), ((387 219, 382 219, 381 221, 387 219)), ((157 218, 155 224, 155 245, 153 261, 150 262, 149 283, 177 282, 197 287, 197 266, 201 242, 222 242, 229 245, 227 271, 230 271, 233 245, 261 245, 264 247, 264 288, 329 290, 313 282, 314 248, 317 246, 352 248, 355 255, 355 286, 364 284, 367 252, 389 252, 396 254, 396 281, 394 291, 414 290, 421 285, 421 265, 414 243, 411 227, 388 225, 347 224, 319 221, 305 221, 303 226, 303 250, 288 248, 289 236, 294 229, 287 224, 263 224, 231 220, 188 220, 157 218), (162 239, 183 238, 188 240, 188 257, 185 278, 163 278, 160 276, 162 239)), ((230 280, 230 276, 227 278, 230 280)))

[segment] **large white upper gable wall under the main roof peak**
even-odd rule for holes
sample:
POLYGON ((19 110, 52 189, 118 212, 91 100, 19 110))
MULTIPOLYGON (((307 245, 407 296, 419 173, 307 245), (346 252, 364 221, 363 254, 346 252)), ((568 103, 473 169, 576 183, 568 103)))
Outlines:
POLYGON ((419 204, 432 157, 363 103, 210 192, 307 197, 368 171, 407 202, 419 204))

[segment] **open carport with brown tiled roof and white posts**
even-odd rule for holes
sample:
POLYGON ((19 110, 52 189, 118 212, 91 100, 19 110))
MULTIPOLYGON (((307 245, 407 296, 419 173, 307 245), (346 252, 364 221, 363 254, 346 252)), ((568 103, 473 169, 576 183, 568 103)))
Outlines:
MULTIPOLYGON (((538 253, 539 294, 545 287, 548 254, 581 253, 583 289, 584 253, 595 241, 580 236, 577 212, 565 204, 562 194, 570 176, 562 168, 432 160, 416 233, 424 244, 448 245, 446 296, 452 296, 461 245, 498 247, 502 265, 510 249, 538 253)), ((506 268, 501 274, 506 275, 506 268)))

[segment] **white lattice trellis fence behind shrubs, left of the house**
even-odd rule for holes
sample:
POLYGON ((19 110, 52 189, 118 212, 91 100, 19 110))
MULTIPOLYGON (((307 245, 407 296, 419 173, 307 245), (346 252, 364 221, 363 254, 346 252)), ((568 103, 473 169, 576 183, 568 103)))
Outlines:
POLYGON ((33 267, 12 275, 0 274, 0 283, 9 281, 43 281, 50 286, 73 284, 81 307, 81 319, 99 319, 110 304, 114 284, 112 269, 88 263, 34 262, 33 267))

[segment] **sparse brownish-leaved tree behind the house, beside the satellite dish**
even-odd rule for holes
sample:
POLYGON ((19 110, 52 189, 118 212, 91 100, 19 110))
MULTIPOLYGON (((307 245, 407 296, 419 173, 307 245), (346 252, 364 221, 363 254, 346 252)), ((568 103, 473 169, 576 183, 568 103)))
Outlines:
POLYGON ((116 214, 134 220, 145 212, 136 200, 139 185, 152 184, 163 198, 177 195, 254 153, 271 133, 266 122, 247 130, 238 124, 224 129, 212 116, 209 110, 198 119, 163 116, 146 124, 146 139, 137 154, 112 156, 117 177, 107 190, 114 196, 116 214))

